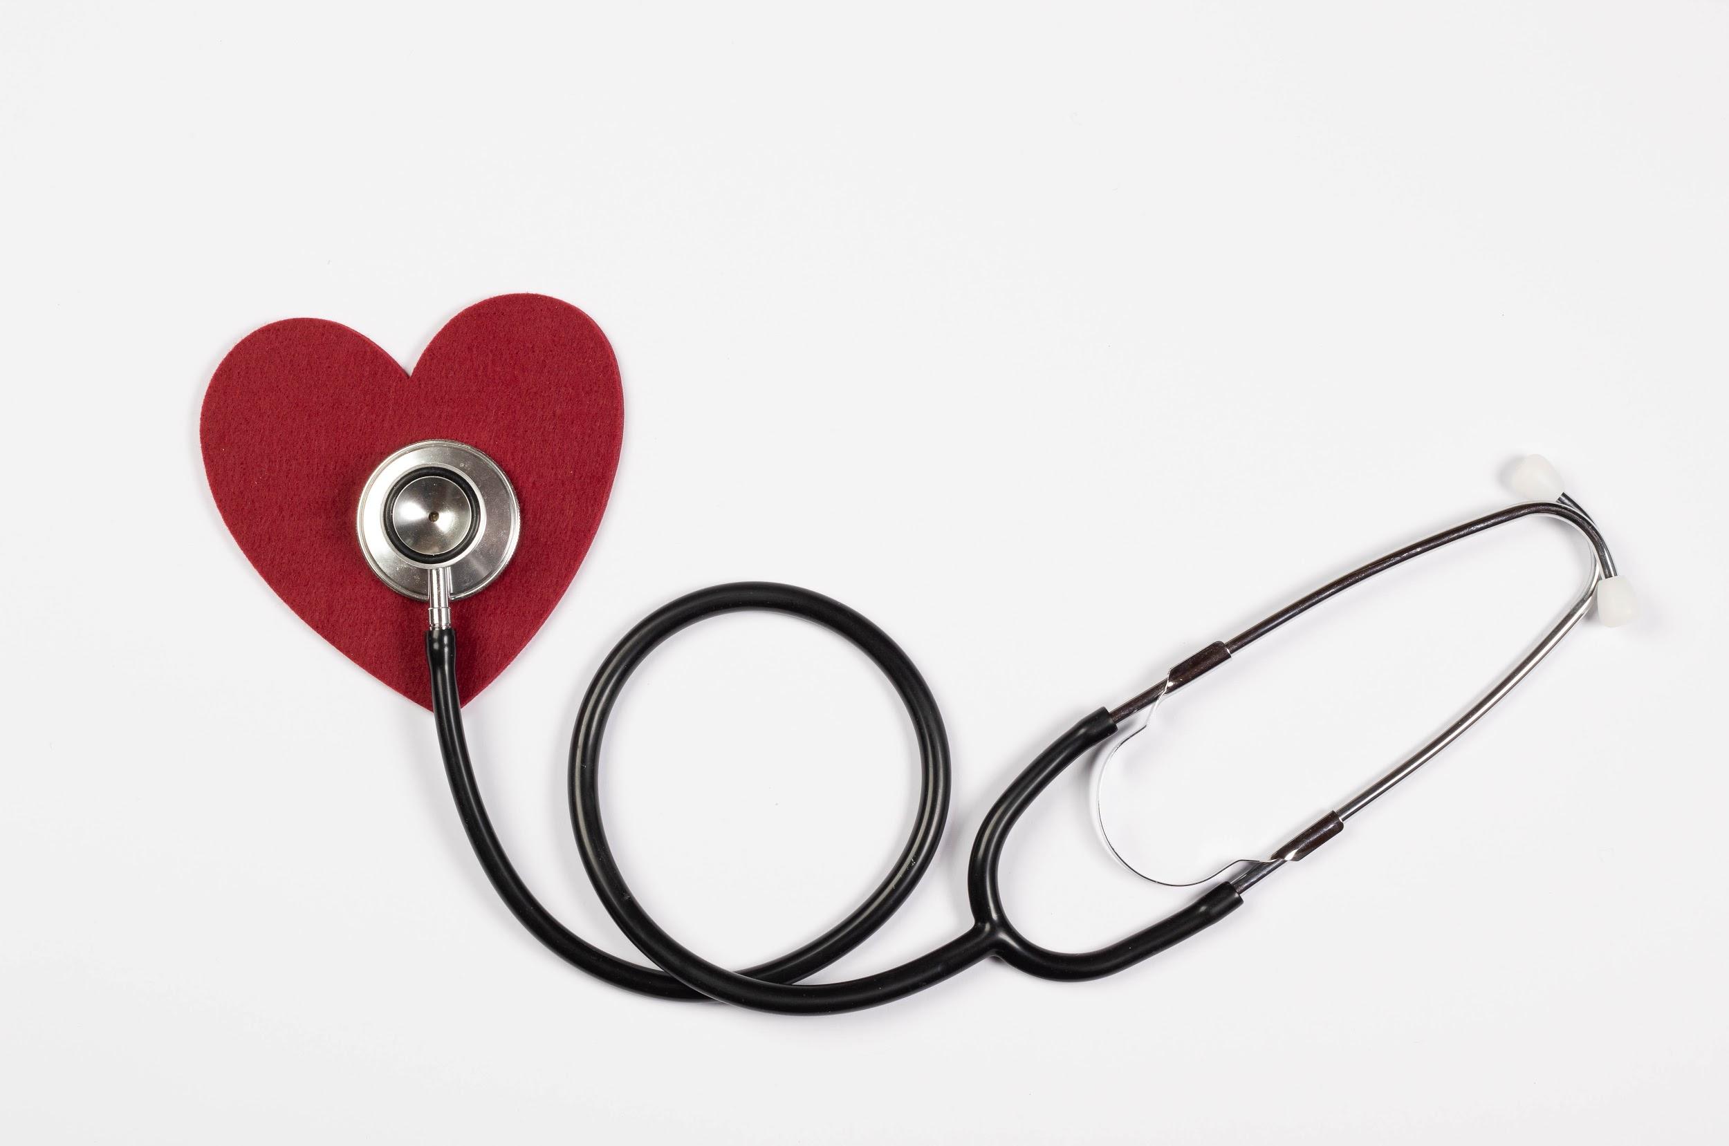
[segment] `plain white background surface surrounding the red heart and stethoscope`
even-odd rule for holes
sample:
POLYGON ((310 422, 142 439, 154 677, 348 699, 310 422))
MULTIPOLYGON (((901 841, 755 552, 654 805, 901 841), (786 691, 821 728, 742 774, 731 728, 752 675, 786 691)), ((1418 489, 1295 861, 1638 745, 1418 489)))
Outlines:
MULTIPOLYGON (((1726 60, 1729 7, 1674 2, 7 3, 0 1137, 1722 1141, 1726 60), (645 1001, 517 928, 427 714, 252 574, 197 455, 254 327, 413 363, 508 290, 607 330, 626 442, 469 729, 534 890, 621 954, 569 721, 709 583, 852 603, 944 705, 941 857, 823 980, 965 926, 980 816, 1056 731, 1504 505, 1525 451, 1644 615, 1587 621, 1113 978, 986 963, 826 1020, 645 1001)), ((1269 638, 1126 764, 1126 845, 1274 845, 1587 569, 1509 527, 1269 638)), ((621 863, 731 965, 849 909, 911 814, 892 693, 790 621, 678 638, 609 745, 621 863)), ((1006 863, 1024 930, 1074 949, 1186 901, 1110 866, 1084 793, 1006 863)))

